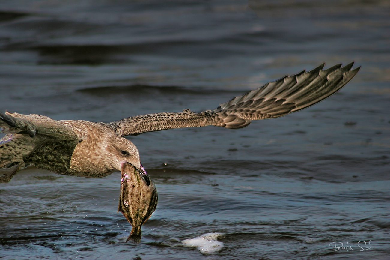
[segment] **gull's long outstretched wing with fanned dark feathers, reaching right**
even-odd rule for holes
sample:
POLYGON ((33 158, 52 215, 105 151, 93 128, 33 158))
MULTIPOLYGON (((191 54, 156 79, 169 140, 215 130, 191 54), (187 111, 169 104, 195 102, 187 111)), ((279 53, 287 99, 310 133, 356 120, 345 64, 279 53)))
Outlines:
POLYGON ((360 67, 354 62, 342 67, 337 64, 323 70, 325 63, 311 71, 268 82, 256 90, 201 113, 184 110, 178 113, 157 113, 133 116, 111 122, 118 135, 138 135, 172 128, 215 125, 243 128, 251 120, 278 118, 310 107, 334 94, 351 80, 360 67))

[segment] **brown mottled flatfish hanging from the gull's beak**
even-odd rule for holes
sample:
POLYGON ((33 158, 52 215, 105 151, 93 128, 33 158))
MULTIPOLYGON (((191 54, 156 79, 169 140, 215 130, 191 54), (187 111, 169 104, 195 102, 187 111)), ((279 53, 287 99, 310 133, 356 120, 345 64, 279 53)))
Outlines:
POLYGON ((149 219, 157 206, 157 190, 154 182, 140 169, 128 162, 122 164, 121 194, 119 196, 118 212, 131 224, 130 239, 139 244, 141 241, 141 226, 149 219))

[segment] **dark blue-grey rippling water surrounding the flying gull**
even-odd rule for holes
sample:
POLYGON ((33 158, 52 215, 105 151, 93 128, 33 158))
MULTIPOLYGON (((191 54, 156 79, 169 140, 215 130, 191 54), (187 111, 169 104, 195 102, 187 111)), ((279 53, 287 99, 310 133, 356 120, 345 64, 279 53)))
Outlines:
POLYGON ((0 259, 388 259, 389 11, 385 0, 2 2, 2 112, 200 112, 322 62, 362 68, 282 118, 129 137, 159 192, 139 245, 117 213, 120 173, 21 170, 0 184, 0 259), (181 243, 210 232, 223 234, 214 254, 181 243))

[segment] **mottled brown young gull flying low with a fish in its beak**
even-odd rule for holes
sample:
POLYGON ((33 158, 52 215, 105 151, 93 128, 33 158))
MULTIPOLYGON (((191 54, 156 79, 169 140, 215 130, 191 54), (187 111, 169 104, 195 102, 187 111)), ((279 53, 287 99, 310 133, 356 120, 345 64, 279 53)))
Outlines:
POLYGON ((252 120, 285 116, 320 102, 346 85, 360 69, 352 69, 353 64, 324 70, 323 63, 200 113, 185 109, 101 123, 0 112, 0 131, 5 134, 0 139, 0 169, 12 168, 0 176, 0 182, 9 182, 30 165, 61 175, 101 178, 130 163, 146 175, 137 147, 125 136, 209 125, 238 129, 252 120))

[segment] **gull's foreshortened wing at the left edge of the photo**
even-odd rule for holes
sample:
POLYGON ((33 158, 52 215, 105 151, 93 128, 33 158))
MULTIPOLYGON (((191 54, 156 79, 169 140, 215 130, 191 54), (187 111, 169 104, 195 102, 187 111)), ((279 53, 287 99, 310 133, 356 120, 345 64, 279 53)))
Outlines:
POLYGON ((58 123, 47 116, 22 115, 18 113, 0 112, 0 131, 5 134, 37 134, 48 135, 62 140, 82 140, 82 135, 71 127, 58 123))

